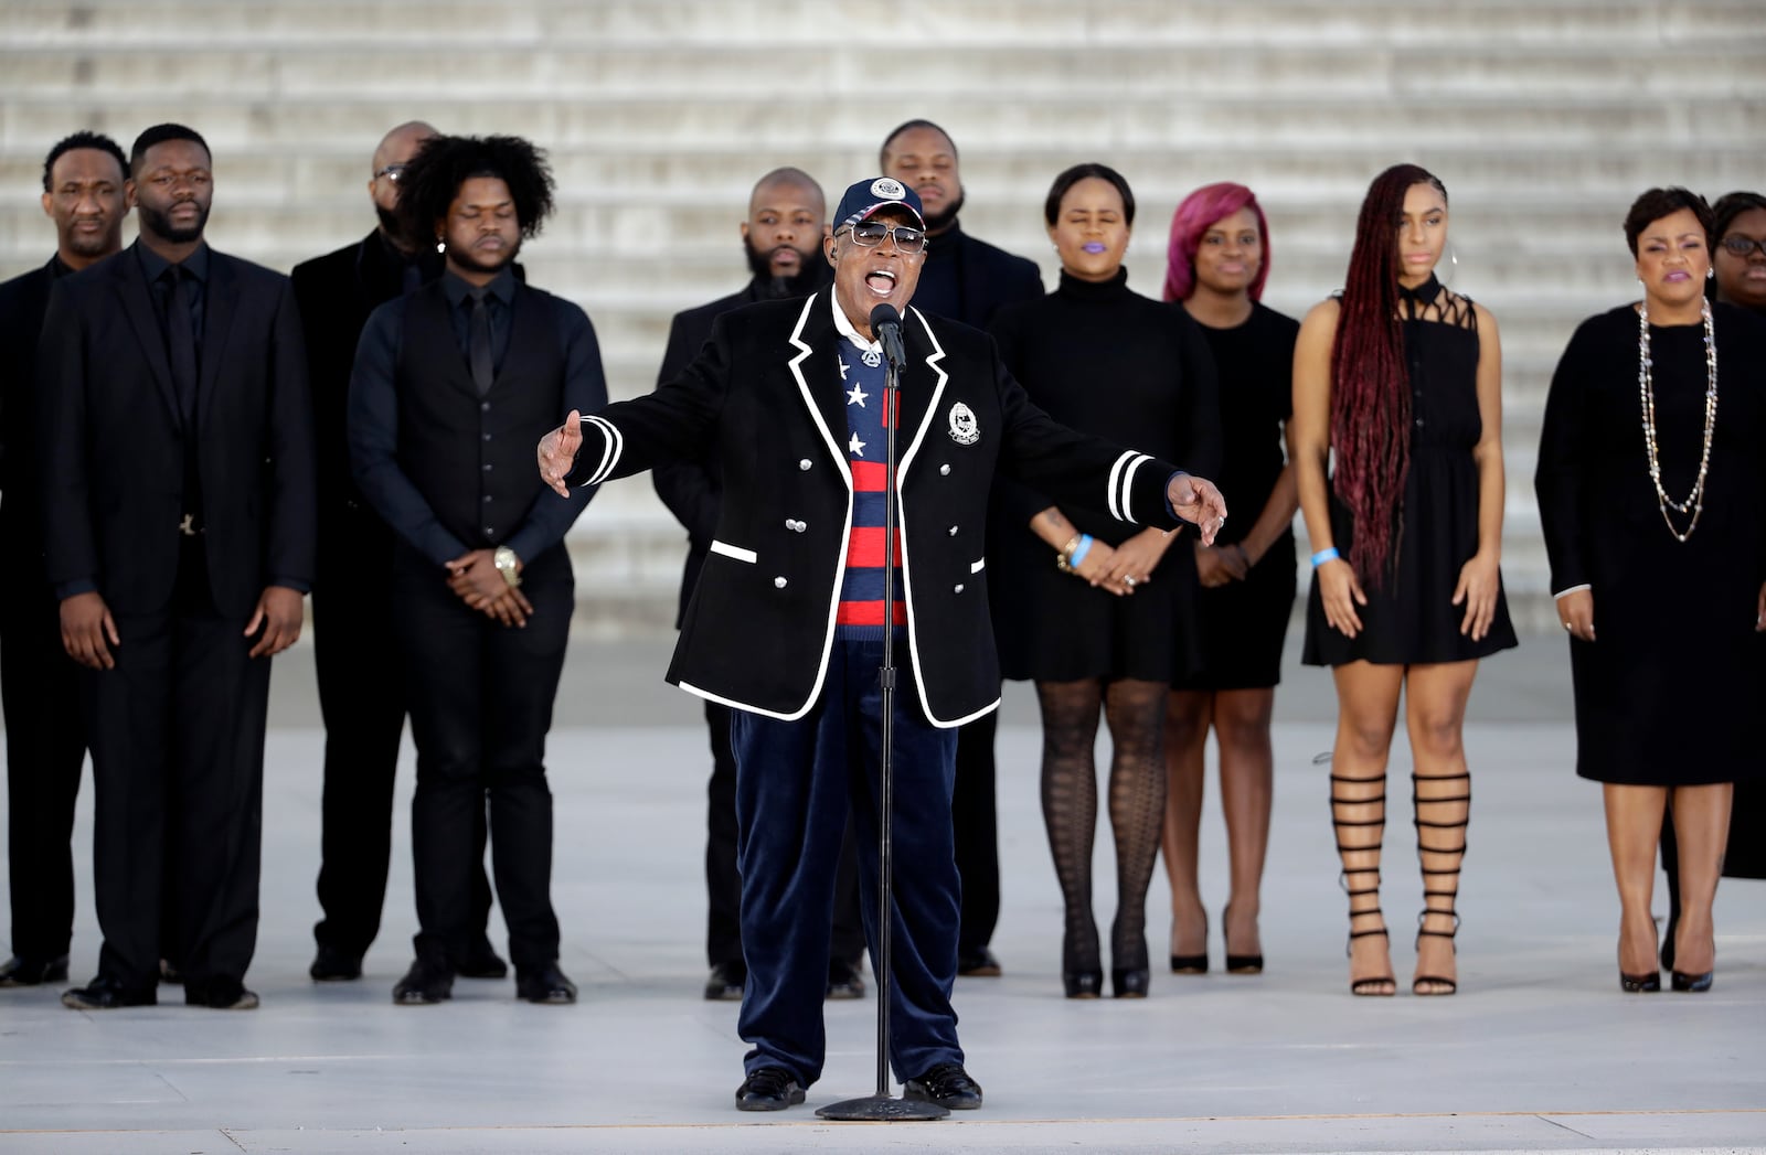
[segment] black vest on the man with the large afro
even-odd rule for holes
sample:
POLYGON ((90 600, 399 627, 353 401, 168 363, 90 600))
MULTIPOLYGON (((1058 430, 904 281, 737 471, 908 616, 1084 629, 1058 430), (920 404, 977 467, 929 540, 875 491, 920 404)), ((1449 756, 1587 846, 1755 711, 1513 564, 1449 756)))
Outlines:
MULTIPOLYGON (((482 399, 434 281, 404 309, 399 468, 470 549, 503 544, 544 491, 533 447, 563 410, 563 351, 547 293, 516 288, 509 351, 482 399)), ((532 558, 523 558, 532 562, 532 558)))

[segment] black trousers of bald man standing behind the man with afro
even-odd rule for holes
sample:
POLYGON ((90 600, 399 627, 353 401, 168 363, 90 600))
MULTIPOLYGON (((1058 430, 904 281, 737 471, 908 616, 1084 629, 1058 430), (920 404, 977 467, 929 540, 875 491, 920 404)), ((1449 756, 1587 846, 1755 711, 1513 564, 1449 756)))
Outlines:
MULTIPOLYGON (((313 650, 325 717, 318 895, 321 947, 367 954, 380 934, 392 864, 392 793, 404 731, 403 662, 392 629, 392 532, 373 510, 339 505, 320 530, 313 650)), ((472 927, 484 936, 484 807, 475 811, 472 927)))

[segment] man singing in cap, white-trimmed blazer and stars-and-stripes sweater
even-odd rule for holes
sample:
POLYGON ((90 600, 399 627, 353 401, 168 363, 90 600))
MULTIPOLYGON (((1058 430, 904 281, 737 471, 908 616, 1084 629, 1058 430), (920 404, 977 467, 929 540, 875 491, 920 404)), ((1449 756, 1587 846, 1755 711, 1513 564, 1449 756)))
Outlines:
MULTIPOLYGON (((1054 424, 962 325, 913 298, 925 260, 920 198, 860 180, 823 253, 834 290, 717 320, 699 357, 646 397, 572 411, 539 445, 560 493, 664 461, 713 457, 717 537, 668 680, 735 710, 743 1111, 804 1102, 821 1076, 834 862, 858 832, 865 932, 878 941, 878 671, 904 643, 894 721, 895 910, 890 1061, 909 1098, 982 1106, 950 991, 959 881, 950 789, 955 726, 1000 705, 984 530, 994 468, 1054 500, 1167 528, 1226 517, 1213 484, 1054 424), (871 318, 902 311, 899 553, 883 542, 885 357, 871 318), (895 565, 885 606, 883 567, 895 565), (857 804, 857 805, 853 805, 857 804)), ((895 417, 894 413, 890 417, 895 417)), ((872 966, 878 959, 872 957, 872 966)))

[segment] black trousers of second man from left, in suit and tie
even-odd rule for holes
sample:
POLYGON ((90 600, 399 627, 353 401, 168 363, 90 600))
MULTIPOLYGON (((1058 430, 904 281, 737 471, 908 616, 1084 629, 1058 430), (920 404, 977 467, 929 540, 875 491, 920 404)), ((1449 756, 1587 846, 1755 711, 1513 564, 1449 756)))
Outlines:
POLYGON ((215 609, 201 539, 170 608, 115 616, 117 668, 79 671, 99 977, 150 991, 168 957, 187 993, 240 982, 258 945, 270 659, 247 657, 245 620, 215 609))

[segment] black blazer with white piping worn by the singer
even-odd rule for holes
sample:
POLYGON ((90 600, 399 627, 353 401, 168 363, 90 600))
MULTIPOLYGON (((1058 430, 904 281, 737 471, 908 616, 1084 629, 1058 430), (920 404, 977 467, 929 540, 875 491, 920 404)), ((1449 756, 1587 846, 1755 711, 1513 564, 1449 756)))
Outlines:
MULTIPOLYGON (((1051 420, 966 325, 908 311, 899 463, 908 650, 920 706, 959 726, 1000 705, 987 616, 994 468, 1060 502, 1176 526, 1176 466, 1051 420)), ((646 397, 583 419, 572 484, 712 456, 717 537, 668 680, 724 705, 804 717, 821 696, 846 570, 853 479, 830 293, 717 320, 710 343, 646 397)))

